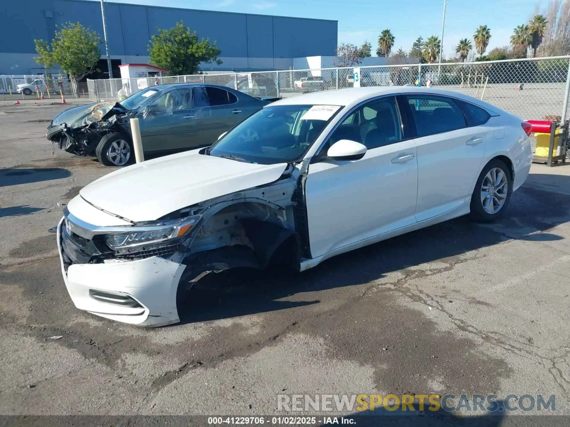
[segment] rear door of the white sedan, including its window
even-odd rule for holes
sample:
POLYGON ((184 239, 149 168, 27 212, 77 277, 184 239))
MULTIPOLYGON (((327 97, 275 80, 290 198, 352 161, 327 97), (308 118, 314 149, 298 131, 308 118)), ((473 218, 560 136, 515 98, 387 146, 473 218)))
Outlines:
POLYGON ((416 219, 423 221, 458 207, 471 197, 483 161, 487 130, 469 126, 453 98, 406 95, 401 100, 416 126, 416 219))

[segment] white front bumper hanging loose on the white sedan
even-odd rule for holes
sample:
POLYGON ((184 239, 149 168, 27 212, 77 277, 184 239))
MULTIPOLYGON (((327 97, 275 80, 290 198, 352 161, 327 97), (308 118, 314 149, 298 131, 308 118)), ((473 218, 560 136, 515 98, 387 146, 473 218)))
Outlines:
POLYGON ((185 265, 161 257, 71 264, 63 258, 62 227, 57 241, 63 281, 80 310, 132 325, 156 327, 178 323, 176 293, 185 265))

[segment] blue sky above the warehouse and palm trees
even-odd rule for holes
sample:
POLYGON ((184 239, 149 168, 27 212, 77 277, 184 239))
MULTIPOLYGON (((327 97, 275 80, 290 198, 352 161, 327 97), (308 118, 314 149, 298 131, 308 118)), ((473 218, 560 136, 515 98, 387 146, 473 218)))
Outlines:
MULTIPOLYGON (((117 1, 117 0, 107 0, 117 1)), ((441 36, 443 0, 120 0, 121 3, 222 10, 339 22, 339 43, 372 43, 389 28, 396 36, 394 50, 409 50, 418 36, 441 36)), ((459 39, 473 40, 479 25, 491 29, 488 50, 509 43, 512 30, 527 22, 546 0, 447 0, 443 53, 454 54, 459 39)))

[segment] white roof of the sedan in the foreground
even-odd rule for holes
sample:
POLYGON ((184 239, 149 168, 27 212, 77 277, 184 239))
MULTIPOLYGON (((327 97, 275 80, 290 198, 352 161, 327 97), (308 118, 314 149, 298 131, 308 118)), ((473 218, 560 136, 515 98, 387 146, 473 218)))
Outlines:
POLYGON ((397 95, 398 93, 416 93, 418 95, 441 95, 453 98, 459 98, 483 108, 489 109, 492 112, 500 111, 495 106, 487 104, 473 98, 471 96, 463 95, 459 92, 446 91, 445 89, 426 88, 426 87, 410 87, 410 86, 376 86, 366 88, 345 88, 333 89, 331 91, 312 92, 305 95, 298 95, 283 98, 282 100, 275 101, 270 105, 343 105, 353 106, 366 101, 369 98, 374 98, 382 95, 397 95))

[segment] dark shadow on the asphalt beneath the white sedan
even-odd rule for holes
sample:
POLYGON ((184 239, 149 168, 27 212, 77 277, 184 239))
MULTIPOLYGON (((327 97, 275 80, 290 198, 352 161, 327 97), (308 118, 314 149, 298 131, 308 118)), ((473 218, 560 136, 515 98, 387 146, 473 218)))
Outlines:
MULTIPOLYGON (((387 273, 433 261, 453 269, 467 252, 506 241, 555 241, 547 231, 570 220, 570 197, 521 188, 498 223, 479 225, 467 217, 433 225, 333 257, 302 274, 226 270, 208 274, 194 285, 179 309, 181 322, 192 323, 311 305, 319 301, 283 301, 294 295, 366 284, 387 273), (548 197, 549 208, 544 210, 548 197)), ((418 274, 418 273, 414 273, 418 274)))

